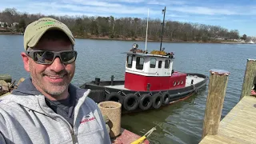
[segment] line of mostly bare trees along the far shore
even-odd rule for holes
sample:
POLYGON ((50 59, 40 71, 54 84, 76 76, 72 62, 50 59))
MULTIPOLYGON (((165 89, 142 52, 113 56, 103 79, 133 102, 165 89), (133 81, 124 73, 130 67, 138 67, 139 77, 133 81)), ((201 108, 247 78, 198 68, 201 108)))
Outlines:
MULTIPOLYGON (((6 8, 0 11, 0 22, 7 22, 10 30, 24 32, 30 22, 38 18, 50 17, 65 23, 77 38, 119 38, 140 39, 146 38, 146 18, 114 18, 82 16, 55 16, 43 14, 27 14, 18 12, 15 8, 6 8), (18 22, 17 26, 11 26, 18 22)), ((162 32, 162 20, 149 19, 148 39, 159 41, 162 32)), ((163 40, 166 41, 194 41, 213 42, 217 40, 238 39, 238 30, 228 30, 222 26, 205 24, 166 21, 164 23, 163 40)), ((246 38, 244 34, 242 39, 246 38)))

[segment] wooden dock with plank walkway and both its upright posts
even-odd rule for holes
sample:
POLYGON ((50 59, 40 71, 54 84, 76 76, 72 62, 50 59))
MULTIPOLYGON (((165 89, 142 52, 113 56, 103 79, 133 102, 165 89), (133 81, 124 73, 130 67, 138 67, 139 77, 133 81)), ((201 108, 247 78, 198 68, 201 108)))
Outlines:
POLYGON ((256 60, 247 59, 240 101, 220 121, 229 74, 225 70, 210 70, 200 144, 256 144, 256 97, 250 96, 256 87, 256 60))

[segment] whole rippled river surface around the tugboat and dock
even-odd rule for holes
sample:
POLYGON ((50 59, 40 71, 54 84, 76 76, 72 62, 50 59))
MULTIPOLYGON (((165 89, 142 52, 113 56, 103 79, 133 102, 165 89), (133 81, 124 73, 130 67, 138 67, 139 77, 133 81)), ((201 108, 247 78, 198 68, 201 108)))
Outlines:
MULTIPOLYGON (((0 74, 11 74, 13 79, 29 77, 24 70, 20 53, 23 40, 20 35, 0 35, 0 74)), ((125 73, 126 55, 134 42, 76 39, 78 51, 76 86, 94 80, 122 80, 125 73)), ((144 49, 145 42, 137 42, 144 49)), ((158 50, 159 42, 148 42, 148 50, 158 50)), ((210 75, 209 70, 221 69, 230 72, 222 118, 236 105, 242 89, 247 58, 255 58, 256 45, 163 43, 166 51, 175 54, 174 70, 210 75)), ((152 127, 157 130, 150 135, 152 143, 198 143, 202 135, 206 90, 160 110, 122 116, 122 127, 143 135, 152 127)))

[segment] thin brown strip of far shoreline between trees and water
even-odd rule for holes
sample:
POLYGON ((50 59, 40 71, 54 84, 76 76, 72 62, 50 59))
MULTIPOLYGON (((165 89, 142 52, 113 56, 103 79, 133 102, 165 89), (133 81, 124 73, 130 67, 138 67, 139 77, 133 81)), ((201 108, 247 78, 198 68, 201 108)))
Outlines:
MULTIPOLYGON (((13 32, 0 32, 0 34, 3 35, 23 35, 22 33, 13 33, 13 32)), ((135 42, 145 42, 145 39, 142 38, 108 38, 108 37, 79 37, 74 36, 74 38, 78 39, 94 39, 94 40, 112 40, 112 41, 135 41, 135 42)), ((160 42, 160 40, 151 40, 148 39, 147 42, 160 42)), ((195 41, 168 41, 168 40, 162 40, 162 42, 172 42, 172 43, 218 43, 218 44, 247 44, 247 43, 241 43, 241 42, 226 42, 226 41, 211 41, 211 42, 195 42, 195 41)))

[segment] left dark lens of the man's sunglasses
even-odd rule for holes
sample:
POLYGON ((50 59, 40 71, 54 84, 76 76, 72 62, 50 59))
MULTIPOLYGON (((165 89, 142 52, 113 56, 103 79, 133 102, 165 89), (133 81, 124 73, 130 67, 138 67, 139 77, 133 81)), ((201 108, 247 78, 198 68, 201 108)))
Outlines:
POLYGON ((34 61, 38 63, 51 63, 54 59, 54 53, 50 51, 34 52, 34 61))

